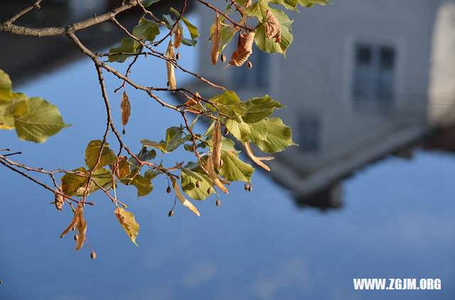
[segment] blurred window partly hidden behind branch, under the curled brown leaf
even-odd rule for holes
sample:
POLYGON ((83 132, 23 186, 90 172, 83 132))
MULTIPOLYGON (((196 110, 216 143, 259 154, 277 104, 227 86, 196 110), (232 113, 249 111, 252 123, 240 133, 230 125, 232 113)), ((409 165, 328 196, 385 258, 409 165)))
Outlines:
POLYGON ((253 65, 251 69, 248 69, 246 62, 241 67, 233 67, 232 82, 235 87, 237 89, 268 87, 270 70, 267 53, 253 46, 249 60, 253 65))

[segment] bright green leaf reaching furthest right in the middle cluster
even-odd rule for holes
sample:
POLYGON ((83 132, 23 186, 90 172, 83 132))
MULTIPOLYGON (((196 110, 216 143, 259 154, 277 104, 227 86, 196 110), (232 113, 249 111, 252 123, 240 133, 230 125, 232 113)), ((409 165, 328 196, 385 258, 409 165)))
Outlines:
POLYGON ((280 118, 266 118, 250 126, 253 142, 264 152, 280 152, 297 145, 292 142, 291 128, 284 125, 280 118))

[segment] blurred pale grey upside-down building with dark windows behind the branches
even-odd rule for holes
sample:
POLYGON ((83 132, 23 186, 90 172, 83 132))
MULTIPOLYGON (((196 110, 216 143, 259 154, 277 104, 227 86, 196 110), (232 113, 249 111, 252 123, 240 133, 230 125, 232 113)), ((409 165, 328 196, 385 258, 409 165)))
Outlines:
MULTIPOLYGON (((288 13, 294 41, 287 58, 255 49, 251 70, 213 67, 209 42, 200 40, 206 78, 241 99, 269 94, 287 104, 277 115, 300 146, 269 165, 302 205, 341 206, 341 179, 391 152, 408 156, 399 150, 455 116, 454 1, 334 2, 288 13)), ((201 22, 201 35, 210 36, 212 17, 201 22)), ((225 49, 228 58, 235 44, 225 49)), ((200 82, 193 89, 217 92, 200 82)))

